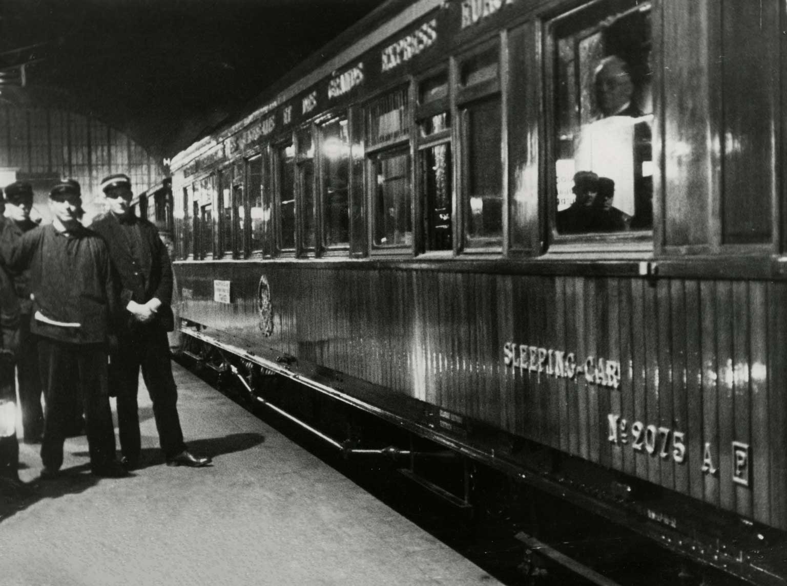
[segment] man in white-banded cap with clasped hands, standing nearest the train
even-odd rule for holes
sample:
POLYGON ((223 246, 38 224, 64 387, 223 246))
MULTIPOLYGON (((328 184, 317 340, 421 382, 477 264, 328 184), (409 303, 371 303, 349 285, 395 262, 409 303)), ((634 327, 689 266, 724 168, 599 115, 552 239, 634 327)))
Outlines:
POLYGON ((172 264, 152 223, 131 209, 131 180, 110 175, 102 181, 109 212, 94 219, 91 229, 109 246, 119 279, 120 311, 117 351, 109 368, 117 396, 117 420, 123 463, 131 470, 141 464, 137 392, 139 370, 153 401, 161 449, 169 466, 206 466, 187 450, 177 410, 178 393, 172 377, 167 332, 172 331, 172 264))

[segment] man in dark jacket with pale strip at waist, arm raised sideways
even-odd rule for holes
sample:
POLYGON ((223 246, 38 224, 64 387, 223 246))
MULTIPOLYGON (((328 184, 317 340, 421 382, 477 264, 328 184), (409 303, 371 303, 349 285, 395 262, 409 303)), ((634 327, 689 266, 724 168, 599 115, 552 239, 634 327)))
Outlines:
POLYGON ((115 315, 109 251, 79 223, 79 183, 69 179, 50 192, 53 222, 21 236, 3 227, 0 256, 12 271, 30 269, 31 334, 39 337, 39 366, 46 399, 41 442, 43 478, 63 464, 65 427, 76 381, 81 392, 91 471, 121 477, 109 407, 107 342, 115 315))

